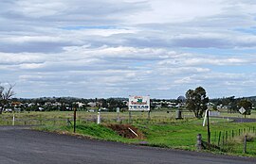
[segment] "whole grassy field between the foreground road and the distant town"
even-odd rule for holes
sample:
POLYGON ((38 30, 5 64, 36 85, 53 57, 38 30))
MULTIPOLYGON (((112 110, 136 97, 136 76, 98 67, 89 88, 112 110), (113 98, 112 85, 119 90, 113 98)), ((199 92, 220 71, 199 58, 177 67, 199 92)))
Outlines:
MULTIPOLYGON (((254 117, 255 113, 252 113, 254 117)), ((152 112, 148 120, 147 112, 133 112, 130 123, 144 135, 143 139, 125 139, 107 125, 117 123, 118 114, 114 112, 101 112, 102 124, 96 124, 97 113, 85 111, 77 112, 77 135, 93 139, 105 139, 125 143, 145 144, 150 146, 195 150, 196 135, 202 134, 207 140, 207 127, 203 127, 203 120, 192 118, 192 113, 183 113, 185 119, 175 120, 175 113, 166 111, 152 112)), ((233 115, 232 115, 233 116, 233 115)), ((13 114, 0 115, 0 124, 12 123, 13 114)), ((229 115, 230 117, 230 115, 229 115)), ((53 112, 24 112, 15 113, 16 125, 42 125, 37 129, 74 135, 72 111, 53 112), (67 120, 70 123, 67 123, 67 120)), ((122 124, 129 123, 127 112, 119 113, 122 124)), ((211 143, 218 144, 223 152, 231 155, 256 156, 256 123, 228 123, 227 119, 210 118, 211 143), (220 136, 219 140, 219 134, 220 136), (225 134, 225 136, 223 136, 225 134), (226 135, 228 134, 228 135, 226 135), (243 154, 243 138, 247 135, 251 139, 247 142, 247 154, 243 154)), ((223 153, 215 150, 216 153, 223 153)))

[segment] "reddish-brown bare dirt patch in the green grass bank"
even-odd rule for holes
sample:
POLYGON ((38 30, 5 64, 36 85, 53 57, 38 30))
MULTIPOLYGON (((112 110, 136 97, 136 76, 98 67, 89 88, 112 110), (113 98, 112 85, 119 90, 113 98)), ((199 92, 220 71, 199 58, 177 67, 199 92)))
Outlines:
POLYGON ((143 134, 130 124, 108 124, 107 127, 116 131, 119 136, 127 139, 144 139, 143 134))

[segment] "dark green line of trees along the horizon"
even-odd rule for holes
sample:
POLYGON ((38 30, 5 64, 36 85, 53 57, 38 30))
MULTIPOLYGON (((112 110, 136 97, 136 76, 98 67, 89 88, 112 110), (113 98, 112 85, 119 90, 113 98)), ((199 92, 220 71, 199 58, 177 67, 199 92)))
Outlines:
MULTIPOLYGON (((38 107, 45 107, 45 110, 71 110, 73 107, 78 107, 75 102, 80 102, 84 106, 81 109, 86 109, 88 103, 95 103, 96 107, 104 107, 109 111, 115 111, 117 107, 127 108, 128 98, 95 98, 95 99, 84 99, 74 97, 42 97, 35 99, 24 99, 24 98, 12 98, 15 95, 13 90, 14 85, 1 84, 0 83, 0 114, 5 108, 10 106, 10 102, 20 102, 23 104, 25 110, 37 110, 38 107), (46 106, 47 103, 54 104, 58 102, 57 107, 46 106), (27 107, 25 105, 33 103, 34 106, 27 107)), ((152 99, 152 102, 161 102, 165 99, 152 99)), ((175 103, 179 103, 179 100, 173 100, 175 103)), ((237 112, 240 107, 246 109, 246 115, 250 114, 253 104, 255 105, 256 97, 248 98, 235 98, 234 96, 219 99, 209 99, 207 92, 203 87, 197 87, 195 90, 188 90, 186 92, 185 107, 194 113, 196 118, 202 118, 204 112, 210 107, 210 103, 213 104, 211 109, 217 110, 218 106, 226 106, 229 108, 229 112, 237 112)), ((154 104, 151 103, 151 108, 155 109, 154 104)))

